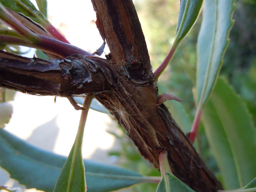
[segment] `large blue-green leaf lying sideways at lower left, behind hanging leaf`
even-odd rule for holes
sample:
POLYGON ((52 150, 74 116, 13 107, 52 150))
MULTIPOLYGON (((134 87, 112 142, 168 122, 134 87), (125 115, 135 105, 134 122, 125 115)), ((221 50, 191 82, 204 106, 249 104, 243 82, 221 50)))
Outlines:
MULTIPOLYGON (((53 154, 0 130, 0 165, 11 178, 27 188, 53 191, 67 157, 53 154)), ((84 160, 86 182, 90 191, 112 191, 129 187, 150 178, 107 164, 84 160)))

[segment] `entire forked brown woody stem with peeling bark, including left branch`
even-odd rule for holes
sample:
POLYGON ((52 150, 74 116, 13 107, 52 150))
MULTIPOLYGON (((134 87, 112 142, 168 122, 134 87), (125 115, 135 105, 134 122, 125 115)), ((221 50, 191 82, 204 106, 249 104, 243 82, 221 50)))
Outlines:
POLYGON ((118 119, 141 154, 159 168, 168 151, 175 176, 195 191, 222 189, 214 174, 159 103, 150 59, 132 1, 92 1, 97 24, 111 54, 107 59, 73 55, 45 61, 0 53, 0 86, 30 94, 91 92, 118 119))

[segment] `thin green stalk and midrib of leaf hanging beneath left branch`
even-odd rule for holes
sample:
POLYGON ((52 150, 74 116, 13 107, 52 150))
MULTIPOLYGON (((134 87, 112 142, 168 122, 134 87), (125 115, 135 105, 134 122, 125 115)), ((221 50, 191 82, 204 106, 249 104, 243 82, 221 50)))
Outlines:
MULTIPOLYGON (((84 103, 83 103, 83 108, 85 110, 82 110, 82 112, 81 112, 81 117, 80 117, 80 122, 79 122, 79 126, 78 126, 77 136, 76 136, 76 140, 75 140, 75 143, 74 143, 74 153, 73 153, 73 158, 72 158, 72 165, 76 161, 77 153, 82 153, 82 151, 78 150, 78 148, 80 146, 82 146, 82 143, 83 143, 84 127, 85 127, 85 123, 86 123, 86 119, 87 119, 87 115, 88 115, 88 111, 90 109, 92 99, 93 99, 93 95, 88 93, 86 95, 86 98, 85 98, 84 103)), ((73 174, 74 174, 74 166, 71 166, 70 167, 69 179, 68 179, 67 191, 70 191, 70 189, 71 189, 73 174)), ((86 181, 85 181, 85 185, 86 185, 86 181)))

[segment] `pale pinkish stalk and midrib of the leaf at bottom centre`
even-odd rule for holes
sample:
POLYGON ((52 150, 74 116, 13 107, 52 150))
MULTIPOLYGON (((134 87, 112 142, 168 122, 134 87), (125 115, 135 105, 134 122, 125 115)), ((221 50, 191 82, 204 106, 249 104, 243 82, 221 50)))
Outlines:
POLYGON ((172 172, 168 163, 167 151, 163 151, 159 154, 159 165, 160 165, 161 177, 164 178, 165 180, 165 191, 171 191, 170 180, 168 175, 169 174, 172 175, 172 172))

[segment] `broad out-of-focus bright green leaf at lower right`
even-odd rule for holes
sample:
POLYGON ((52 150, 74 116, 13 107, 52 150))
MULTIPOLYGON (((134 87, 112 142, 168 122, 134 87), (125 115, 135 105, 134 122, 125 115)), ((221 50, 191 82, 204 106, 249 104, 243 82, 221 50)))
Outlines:
POLYGON ((202 122, 224 187, 248 184, 256 176, 256 130, 241 98, 222 79, 204 106, 202 122))

